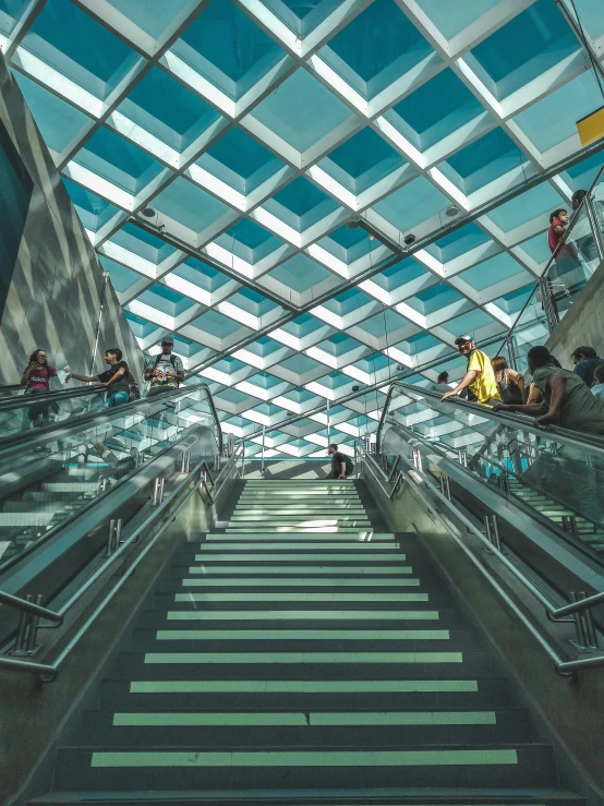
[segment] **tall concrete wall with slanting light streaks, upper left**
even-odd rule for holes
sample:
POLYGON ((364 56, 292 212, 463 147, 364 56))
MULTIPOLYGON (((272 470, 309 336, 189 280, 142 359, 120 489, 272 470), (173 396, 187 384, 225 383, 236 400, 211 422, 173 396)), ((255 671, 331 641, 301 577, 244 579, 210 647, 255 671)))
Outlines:
MULTIPOLYGON (((16 383, 36 347, 57 368, 87 373, 102 298, 102 268, 16 82, 0 55, 0 121, 34 181, 29 210, 0 321, 0 384, 16 383)), ((0 237, 1 237, 0 228, 0 237)), ((120 347, 138 373, 143 354, 107 280, 95 371, 120 347)))

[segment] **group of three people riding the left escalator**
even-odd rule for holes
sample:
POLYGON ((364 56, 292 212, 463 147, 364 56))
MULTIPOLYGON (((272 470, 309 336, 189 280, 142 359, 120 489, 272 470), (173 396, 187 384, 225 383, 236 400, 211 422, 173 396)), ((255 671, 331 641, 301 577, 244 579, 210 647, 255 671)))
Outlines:
MULTIPOLYGON (((174 340, 171 336, 161 339, 161 352, 149 357, 145 363, 144 377, 148 383, 147 397, 173 392, 184 381, 182 361, 173 353, 174 340)), ((58 377, 63 384, 71 380, 83 383, 101 384, 106 390, 105 407, 122 406, 141 397, 138 384, 131 373, 128 362, 119 347, 110 347, 105 351, 105 363, 108 369, 96 375, 83 375, 73 372, 70 366, 57 371, 48 361, 47 351, 43 348, 34 350, 29 362, 21 377, 25 394, 36 395, 50 392, 50 380, 58 377)), ((28 419, 32 425, 44 425, 48 421, 52 402, 48 400, 28 406, 28 419)))

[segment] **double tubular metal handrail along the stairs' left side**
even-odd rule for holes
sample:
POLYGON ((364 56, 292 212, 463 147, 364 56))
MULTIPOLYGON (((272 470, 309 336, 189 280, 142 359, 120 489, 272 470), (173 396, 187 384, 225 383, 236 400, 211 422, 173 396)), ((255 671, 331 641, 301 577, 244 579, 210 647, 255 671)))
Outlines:
MULTIPOLYGON (((225 484, 228 481, 228 473, 232 469, 232 466, 237 464, 237 456, 238 452, 235 450, 231 457, 229 457, 228 462, 225 465, 216 480, 213 482, 214 488, 216 489, 215 497, 219 495, 220 491, 225 486, 225 484), (225 477, 220 484, 218 484, 219 480, 225 477)), ((181 494, 183 489, 195 478, 197 473, 203 468, 206 468, 206 470, 209 471, 209 468, 205 461, 205 459, 202 459, 193 470, 191 470, 186 477, 172 490, 172 492, 159 503, 157 507, 153 508, 153 512, 149 514, 145 520, 143 520, 142 524, 140 524, 136 529, 132 532, 132 534, 117 549, 116 552, 113 552, 102 565, 100 565, 95 574, 93 574, 92 577, 89 577, 86 582, 78 588, 78 590, 69 599, 58 611, 51 611, 47 607, 40 607, 39 605, 32 604, 31 602, 27 602, 24 599, 19 599, 17 597, 9 597, 9 594, 3 594, 2 600, 4 603, 10 604, 17 610, 28 612, 35 615, 43 616, 45 618, 48 618, 50 621, 56 622, 57 624, 60 624, 65 613, 73 607, 73 605, 82 599, 82 597, 89 590, 89 588, 102 576, 107 568, 112 565, 118 557, 120 557, 126 550, 128 546, 132 545, 149 527, 153 526, 153 524, 158 520, 162 514, 166 512, 166 509, 178 498, 178 496, 181 494), (9 598, 11 601, 8 601, 9 598)), ((202 483, 202 479, 200 478, 200 484, 202 483)), ((182 507, 186 504, 189 498, 193 495, 193 493, 198 489, 198 484, 194 484, 190 492, 183 497, 182 501, 179 502, 177 508, 174 512, 171 513, 171 517, 166 519, 166 522, 164 526, 155 533, 153 539, 147 543, 145 549, 134 558, 134 561, 129 565, 129 567, 123 572, 121 575, 119 581, 111 588, 111 590, 107 593, 107 596, 104 598, 104 600, 98 604, 98 606, 94 610, 94 612, 88 616, 88 618, 84 622, 84 624, 80 627, 75 636, 69 641, 69 643, 63 648, 61 653, 58 655, 58 658, 55 660, 52 664, 44 664, 44 663, 35 663, 33 661, 21 661, 15 660, 12 658, 0 658, 0 669, 11 669, 13 671, 20 671, 20 672, 32 672, 34 674, 38 674, 40 676, 40 679, 43 682, 51 682, 57 676, 57 673, 64 662, 65 658, 71 653, 73 648, 76 646, 76 643, 82 639, 82 637, 85 635, 85 633, 88 630, 90 625, 96 621, 96 618, 100 615, 100 613, 105 610, 107 604, 111 601, 111 599, 116 596, 116 593, 120 590, 122 585, 130 578, 131 573, 134 570, 134 568, 138 565, 138 563, 146 556, 146 554, 150 551, 153 545, 156 543, 156 541, 159 539, 159 537, 164 533, 164 531, 168 528, 168 526, 172 522, 173 517, 182 509, 182 507)))

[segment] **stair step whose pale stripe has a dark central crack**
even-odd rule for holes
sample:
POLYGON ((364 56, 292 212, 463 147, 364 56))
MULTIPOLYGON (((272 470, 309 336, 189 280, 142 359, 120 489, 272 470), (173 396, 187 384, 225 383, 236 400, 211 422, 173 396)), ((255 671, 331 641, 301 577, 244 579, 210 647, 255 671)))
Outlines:
MULTIPOLYGON (((150 705, 150 703, 149 703, 150 705)), ((78 742, 98 748, 443 746, 531 739, 527 710, 383 711, 84 711, 78 742)))

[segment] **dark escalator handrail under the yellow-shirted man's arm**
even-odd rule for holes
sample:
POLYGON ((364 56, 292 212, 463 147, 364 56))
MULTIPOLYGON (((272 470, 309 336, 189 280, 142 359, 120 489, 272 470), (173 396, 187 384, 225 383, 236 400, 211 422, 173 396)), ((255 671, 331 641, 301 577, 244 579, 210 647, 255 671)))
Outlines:
MULTIPOLYGON (((414 395, 420 395, 427 398, 428 400, 434 400, 435 402, 440 402, 440 399, 443 397, 437 392, 425 389, 422 386, 413 386, 412 384, 406 384, 402 381, 392 382, 390 388, 388 389, 386 401, 384 404, 384 408, 382 409, 379 424, 377 426, 376 444, 378 448, 382 442, 383 428, 388 420, 390 401, 397 389, 402 389, 414 395)), ((577 447, 577 445, 579 444, 580 447, 587 453, 595 454, 596 456, 604 459, 604 437, 601 437, 597 434, 570 431, 570 429, 564 429, 560 425, 547 425, 546 428, 536 429, 534 425, 532 425, 532 422, 534 420, 533 417, 529 417, 527 414, 514 414, 508 411, 493 411, 493 409, 487 406, 481 406, 480 404, 470 402, 469 400, 463 400, 459 397, 456 397, 454 399, 449 398, 446 401, 446 405, 456 406, 470 414, 479 414, 480 417, 486 420, 492 420, 493 422, 499 423, 500 425, 508 425, 509 428, 524 431, 526 433, 532 434, 533 436, 541 436, 549 438, 554 442, 559 442, 563 445, 577 447)))

